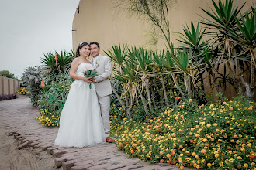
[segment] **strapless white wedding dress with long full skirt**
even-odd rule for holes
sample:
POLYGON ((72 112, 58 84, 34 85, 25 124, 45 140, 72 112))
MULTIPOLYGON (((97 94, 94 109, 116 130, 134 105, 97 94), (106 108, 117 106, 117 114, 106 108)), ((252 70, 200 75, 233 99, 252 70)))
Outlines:
MULTIPOLYGON (((82 72, 88 69, 92 69, 92 64, 81 63, 76 74, 84 76, 82 72)), ((75 80, 61 112, 55 145, 83 148, 106 142, 104 135, 94 83, 90 89, 89 83, 75 80)))

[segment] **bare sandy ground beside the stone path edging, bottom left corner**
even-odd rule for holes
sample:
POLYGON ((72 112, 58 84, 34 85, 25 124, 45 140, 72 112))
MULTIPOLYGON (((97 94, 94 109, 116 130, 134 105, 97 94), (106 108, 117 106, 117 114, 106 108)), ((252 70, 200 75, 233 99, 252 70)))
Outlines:
POLYGON ((40 148, 19 150, 19 142, 8 136, 12 129, 0 125, 0 169, 1 170, 53 170, 54 158, 40 148))

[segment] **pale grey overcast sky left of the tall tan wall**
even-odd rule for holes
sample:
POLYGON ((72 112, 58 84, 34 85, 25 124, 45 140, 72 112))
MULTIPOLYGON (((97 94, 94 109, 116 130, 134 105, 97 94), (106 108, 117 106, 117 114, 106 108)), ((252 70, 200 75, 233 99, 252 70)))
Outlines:
POLYGON ((44 53, 72 49, 79 0, 0 0, 0 71, 19 78, 44 53))

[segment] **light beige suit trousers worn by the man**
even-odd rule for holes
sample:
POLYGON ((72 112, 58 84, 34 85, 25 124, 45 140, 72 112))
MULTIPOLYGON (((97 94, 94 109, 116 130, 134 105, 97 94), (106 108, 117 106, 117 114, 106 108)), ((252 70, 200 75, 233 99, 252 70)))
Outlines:
POLYGON ((109 110, 110 110, 110 95, 105 97, 99 97, 99 107, 102 114, 102 124, 106 137, 109 137, 110 122, 109 122, 109 110))

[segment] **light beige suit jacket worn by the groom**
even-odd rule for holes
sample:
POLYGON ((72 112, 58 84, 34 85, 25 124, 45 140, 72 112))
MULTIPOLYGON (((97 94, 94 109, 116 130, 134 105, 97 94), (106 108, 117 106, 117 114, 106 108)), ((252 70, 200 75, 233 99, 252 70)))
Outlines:
POLYGON ((109 76, 112 74, 112 65, 109 57, 99 54, 96 64, 93 64, 93 59, 91 60, 91 63, 98 72, 98 76, 95 76, 95 87, 98 96, 105 97, 112 94, 112 87, 109 80, 109 76))

